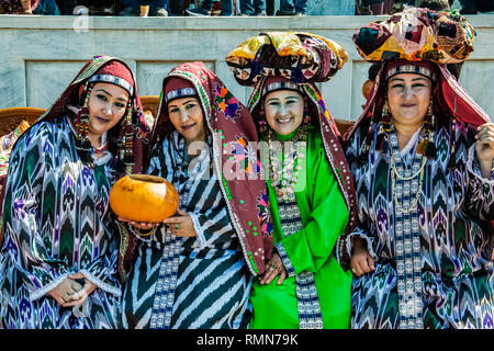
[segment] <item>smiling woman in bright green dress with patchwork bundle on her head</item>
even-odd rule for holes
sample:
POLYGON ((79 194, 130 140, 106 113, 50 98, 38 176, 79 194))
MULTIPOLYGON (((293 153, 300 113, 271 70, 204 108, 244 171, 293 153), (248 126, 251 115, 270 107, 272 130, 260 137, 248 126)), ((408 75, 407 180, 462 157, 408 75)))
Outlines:
POLYGON ((338 44, 308 33, 262 33, 226 57, 261 138, 274 252, 252 285, 251 328, 348 328, 351 273, 337 239, 356 223, 339 133, 315 82, 341 69, 338 44))

